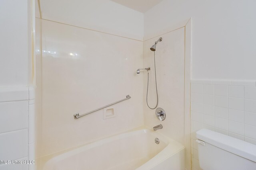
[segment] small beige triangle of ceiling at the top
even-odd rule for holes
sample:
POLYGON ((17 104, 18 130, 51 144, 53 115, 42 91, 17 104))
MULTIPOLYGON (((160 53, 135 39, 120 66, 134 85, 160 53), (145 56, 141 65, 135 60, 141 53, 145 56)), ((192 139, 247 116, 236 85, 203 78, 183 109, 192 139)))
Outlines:
POLYGON ((147 12, 162 0, 111 0, 138 12, 147 12))

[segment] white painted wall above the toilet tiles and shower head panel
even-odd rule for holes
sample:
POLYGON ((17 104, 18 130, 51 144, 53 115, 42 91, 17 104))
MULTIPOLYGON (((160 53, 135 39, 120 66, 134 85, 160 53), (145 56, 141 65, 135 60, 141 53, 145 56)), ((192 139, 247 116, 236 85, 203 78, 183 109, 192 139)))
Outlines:
POLYGON ((144 37, 192 17, 192 78, 255 79, 254 0, 163 0, 144 14, 144 37))

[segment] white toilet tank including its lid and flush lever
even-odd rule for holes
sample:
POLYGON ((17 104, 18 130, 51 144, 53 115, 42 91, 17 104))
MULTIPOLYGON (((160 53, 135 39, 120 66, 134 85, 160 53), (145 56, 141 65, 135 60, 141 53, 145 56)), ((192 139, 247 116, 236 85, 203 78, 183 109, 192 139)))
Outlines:
POLYGON ((203 170, 256 170, 256 145, 208 129, 196 137, 203 170))

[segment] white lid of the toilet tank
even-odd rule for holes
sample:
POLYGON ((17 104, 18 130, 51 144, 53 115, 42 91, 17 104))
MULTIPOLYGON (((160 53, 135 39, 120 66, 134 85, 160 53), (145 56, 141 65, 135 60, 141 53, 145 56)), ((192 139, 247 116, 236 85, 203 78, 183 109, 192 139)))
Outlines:
POLYGON ((220 149, 256 162, 256 145, 208 129, 200 129, 196 132, 196 137, 220 149))

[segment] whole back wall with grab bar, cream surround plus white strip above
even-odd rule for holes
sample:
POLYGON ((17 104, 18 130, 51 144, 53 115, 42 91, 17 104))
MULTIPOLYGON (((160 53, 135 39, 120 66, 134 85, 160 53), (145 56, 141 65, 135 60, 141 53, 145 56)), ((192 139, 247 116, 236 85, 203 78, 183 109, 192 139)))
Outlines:
POLYGON ((42 106, 36 107, 39 166, 49 154, 143 125, 143 80, 135 72, 143 66, 143 14, 108 0, 44 0, 40 6, 36 12, 37 93, 42 93, 38 98, 42 106), (73 117, 127 94, 132 98, 73 117), (105 119, 106 113, 114 116, 105 119))

